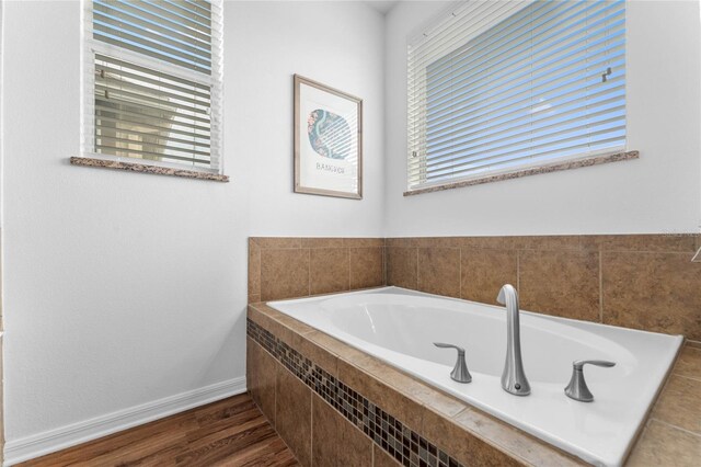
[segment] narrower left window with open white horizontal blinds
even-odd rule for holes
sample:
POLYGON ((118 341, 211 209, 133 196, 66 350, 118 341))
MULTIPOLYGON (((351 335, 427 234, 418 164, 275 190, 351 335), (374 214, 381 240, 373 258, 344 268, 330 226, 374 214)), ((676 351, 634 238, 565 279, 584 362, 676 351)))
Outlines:
POLYGON ((83 152, 221 172, 221 4, 85 0, 83 152))

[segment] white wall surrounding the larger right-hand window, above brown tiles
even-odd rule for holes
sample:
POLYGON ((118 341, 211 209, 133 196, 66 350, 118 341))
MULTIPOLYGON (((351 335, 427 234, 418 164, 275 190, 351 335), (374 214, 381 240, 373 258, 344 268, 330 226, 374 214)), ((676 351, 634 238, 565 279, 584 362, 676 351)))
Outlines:
POLYGON ((628 140, 639 160, 403 197, 406 36, 446 7, 402 2, 387 16, 387 236, 699 231, 698 1, 628 4, 628 140))

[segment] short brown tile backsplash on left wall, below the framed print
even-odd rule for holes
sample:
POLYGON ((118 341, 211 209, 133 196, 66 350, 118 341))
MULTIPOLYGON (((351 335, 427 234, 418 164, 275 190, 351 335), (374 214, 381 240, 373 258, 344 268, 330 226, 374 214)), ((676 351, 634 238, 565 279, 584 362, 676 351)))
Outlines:
POLYGON ((384 239, 251 237, 249 303, 384 285, 384 239))

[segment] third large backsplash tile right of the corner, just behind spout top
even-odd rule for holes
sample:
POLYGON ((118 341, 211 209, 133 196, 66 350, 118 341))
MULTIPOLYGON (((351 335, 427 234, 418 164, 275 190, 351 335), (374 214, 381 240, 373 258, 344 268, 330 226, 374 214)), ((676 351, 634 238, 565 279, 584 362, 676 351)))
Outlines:
POLYGON ((464 249, 461 253, 461 298, 496 305, 504 284, 518 285, 514 250, 464 249))

